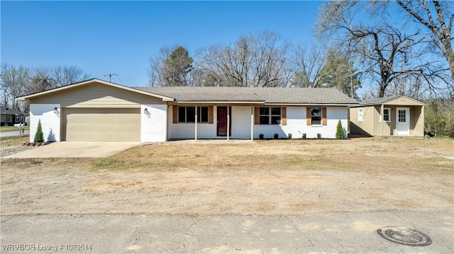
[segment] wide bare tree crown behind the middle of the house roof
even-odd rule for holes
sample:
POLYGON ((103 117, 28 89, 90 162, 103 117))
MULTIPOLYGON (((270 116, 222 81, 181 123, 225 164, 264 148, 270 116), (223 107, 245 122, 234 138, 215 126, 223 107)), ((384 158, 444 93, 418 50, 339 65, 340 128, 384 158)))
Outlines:
POLYGON ((263 31, 242 36, 232 45, 197 50, 196 66, 211 86, 287 86, 289 44, 279 35, 263 31))

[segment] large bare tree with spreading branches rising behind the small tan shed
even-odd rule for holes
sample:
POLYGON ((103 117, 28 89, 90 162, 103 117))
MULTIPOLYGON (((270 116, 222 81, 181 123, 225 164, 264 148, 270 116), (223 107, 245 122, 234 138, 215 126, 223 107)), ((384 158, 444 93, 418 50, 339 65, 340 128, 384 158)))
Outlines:
POLYGON ((423 57, 426 52, 416 50, 423 41, 419 30, 407 35, 386 23, 360 23, 356 15, 364 11, 367 4, 362 1, 323 4, 317 31, 324 39, 336 37, 331 40, 333 45, 358 60, 360 72, 377 82, 378 97, 384 96, 389 83, 404 76, 426 83, 433 91, 452 88, 444 76, 446 69, 440 68, 439 61, 427 59, 423 57), (437 81, 448 86, 438 86, 437 81))

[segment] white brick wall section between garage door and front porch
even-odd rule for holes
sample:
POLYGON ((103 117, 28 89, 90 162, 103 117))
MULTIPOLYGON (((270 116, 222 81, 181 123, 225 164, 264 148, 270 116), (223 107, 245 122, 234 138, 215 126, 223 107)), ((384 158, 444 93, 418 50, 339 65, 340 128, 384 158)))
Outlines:
POLYGON ((167 105, 141 105, 140 115, 140 142, 167 141, 167 105))

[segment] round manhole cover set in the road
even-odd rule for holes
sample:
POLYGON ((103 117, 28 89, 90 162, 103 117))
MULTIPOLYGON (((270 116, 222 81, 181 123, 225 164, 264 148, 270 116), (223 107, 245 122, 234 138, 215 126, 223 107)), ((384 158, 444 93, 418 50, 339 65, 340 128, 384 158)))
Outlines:
POLYGON ((431 238, 426 234, 400 226, 386 226, 378 229, 377 233, 388 241, 406 246, 430 246, 432 243, 431 238))

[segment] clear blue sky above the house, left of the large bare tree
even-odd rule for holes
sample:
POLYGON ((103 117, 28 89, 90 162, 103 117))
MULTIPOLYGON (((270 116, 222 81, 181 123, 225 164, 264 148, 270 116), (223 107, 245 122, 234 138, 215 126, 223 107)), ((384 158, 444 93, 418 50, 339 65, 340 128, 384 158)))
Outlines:
POLYGON ((230 43, 268 29, 308 43, 322 1, 1 1, 1 62, 76 66, 146 86, 160 47, 230 43))

